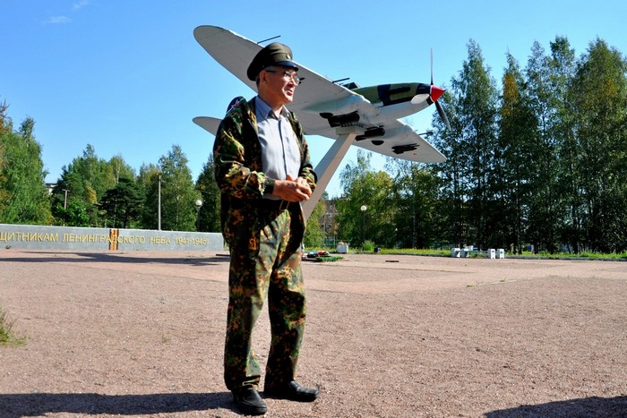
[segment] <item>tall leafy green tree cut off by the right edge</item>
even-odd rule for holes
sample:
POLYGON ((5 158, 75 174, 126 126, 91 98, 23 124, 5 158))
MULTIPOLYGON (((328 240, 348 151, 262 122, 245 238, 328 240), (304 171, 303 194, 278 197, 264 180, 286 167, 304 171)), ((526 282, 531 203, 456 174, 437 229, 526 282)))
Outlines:
POLYGON ((571 84, 579 160, 583 232, 588 249, 624 251, 627 222, 627 63, 597 39, 582 55, 571 84))

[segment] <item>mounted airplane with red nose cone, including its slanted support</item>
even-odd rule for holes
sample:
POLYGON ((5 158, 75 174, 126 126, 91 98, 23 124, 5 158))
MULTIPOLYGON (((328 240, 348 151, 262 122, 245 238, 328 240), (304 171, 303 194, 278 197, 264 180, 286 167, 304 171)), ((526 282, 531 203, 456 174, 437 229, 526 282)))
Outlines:
MULTIPOLYGON (((246 69, 262 45, 216 26, 199 26, 193 30, 193 36, 219 64, 256 90, 254 81, 246 76, 246 69)), ((437 102, 444 90, 434 86, 433 70, 431 84, 381 84, 360 88, 355 83, 331 81, 301 64, 296 65, 304 81, 296 88, 289 110, 296 113, 305 134, 336 140, 315 167, 318 182, 312 197, 303 203, 305 218, 313 212, 351 144, 409 161, 441 163, 446 160, 408 124, 399 121, 435 103, 444 123, 449 125, 437 102)), ((220 121, 215 117, 193 118, 195 124, 213 135, 218 132, 220 121)))

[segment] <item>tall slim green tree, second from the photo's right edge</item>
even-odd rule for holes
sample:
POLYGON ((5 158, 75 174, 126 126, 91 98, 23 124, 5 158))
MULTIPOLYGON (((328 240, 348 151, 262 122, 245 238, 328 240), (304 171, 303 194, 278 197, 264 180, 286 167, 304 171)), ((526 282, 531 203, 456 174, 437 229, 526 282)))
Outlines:
POLYGON ((533 158, 528 166, 533 191, 529 202, 528 241, 537 251, 558 252, 569 200, 572 152, 568 85, 574 70, 574 50, 568 39, 555 38, 551 55, 535 42, 525 73, 529 104, 536 119, 533 158), (570 162, 569 162, 570 161, 570 162))

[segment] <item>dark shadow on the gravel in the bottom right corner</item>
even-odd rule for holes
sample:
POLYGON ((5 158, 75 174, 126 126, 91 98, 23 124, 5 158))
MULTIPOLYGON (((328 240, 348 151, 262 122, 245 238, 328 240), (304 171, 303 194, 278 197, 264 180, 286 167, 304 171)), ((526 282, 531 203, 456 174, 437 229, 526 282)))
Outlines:
POLYGON ((485 414, 486 418, 625 418, 627 396, 584 397, 541 405, 520 405, 485 414))

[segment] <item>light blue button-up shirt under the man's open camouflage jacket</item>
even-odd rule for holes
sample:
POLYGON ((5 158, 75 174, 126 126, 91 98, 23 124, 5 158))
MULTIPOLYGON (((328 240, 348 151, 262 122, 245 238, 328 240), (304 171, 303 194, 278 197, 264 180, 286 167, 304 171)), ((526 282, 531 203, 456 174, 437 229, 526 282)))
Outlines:
POLYGON ((263 173, 274 180, 286 180, 288 175, 296 179, 300 172, 300 148, 288 120, 288 109, 283 107, 276 115, 267 103, 257 97, 255 115, 262 145, 263 173))

